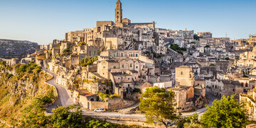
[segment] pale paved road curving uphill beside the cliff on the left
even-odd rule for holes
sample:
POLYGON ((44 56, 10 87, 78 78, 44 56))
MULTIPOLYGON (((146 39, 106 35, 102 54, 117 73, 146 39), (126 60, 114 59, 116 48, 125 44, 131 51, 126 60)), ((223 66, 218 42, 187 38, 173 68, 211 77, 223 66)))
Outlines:
POLYGON ((51 79, 50 81, 47 81, 46 83, 49 83, 49 84, 55 86, 57 89, 57 92, 58 92, 58 99, 55 100, 53 105, 47 107, 48 111, 51 112, 51 110, 53 110, 57 106, 73 105, 73 98, 70 98, 70 95, 68 94, 68 89, 66 89, 64 86, 55 84, 57 74, 55 74, 53 71, 50 71, 48 69, 43 69, 43 71, 46 71, 49 74, 53 75, 54 78, 51 79))

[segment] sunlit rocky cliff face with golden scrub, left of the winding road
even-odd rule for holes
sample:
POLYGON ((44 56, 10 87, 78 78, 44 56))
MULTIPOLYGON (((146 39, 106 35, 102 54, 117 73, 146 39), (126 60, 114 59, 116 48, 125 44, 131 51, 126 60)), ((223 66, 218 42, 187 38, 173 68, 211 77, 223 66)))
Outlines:
POLYGON ((45 104, 52 103, 54 89, 44 83, 48 78, 50 76, 33 62, 13 67, 0 62, 0 120, 15 126, 23 119, 23 110, 34 105, 37 99, 45 104))

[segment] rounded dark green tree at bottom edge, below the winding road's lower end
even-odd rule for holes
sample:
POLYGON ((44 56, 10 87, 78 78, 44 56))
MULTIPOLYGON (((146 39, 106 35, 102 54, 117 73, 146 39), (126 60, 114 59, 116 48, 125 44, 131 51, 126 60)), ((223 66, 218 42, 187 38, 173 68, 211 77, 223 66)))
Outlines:
POLYGON ((82 127, 82 110, 75 106, 58 107, 53 110, 50 122, 50 127, 82 127))

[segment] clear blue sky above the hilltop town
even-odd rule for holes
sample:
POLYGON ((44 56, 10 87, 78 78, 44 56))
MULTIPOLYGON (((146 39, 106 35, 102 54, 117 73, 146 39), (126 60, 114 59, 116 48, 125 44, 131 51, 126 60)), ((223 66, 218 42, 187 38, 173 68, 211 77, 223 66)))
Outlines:
MULTIPOLYGON (((48 44, 68 31, 114 21, 117 0, 0 0, 0 39, 48 44)), ((121 0, 123 18, 156 28, 210 31, 213 37, 256 34, 255 0, 121 0)))

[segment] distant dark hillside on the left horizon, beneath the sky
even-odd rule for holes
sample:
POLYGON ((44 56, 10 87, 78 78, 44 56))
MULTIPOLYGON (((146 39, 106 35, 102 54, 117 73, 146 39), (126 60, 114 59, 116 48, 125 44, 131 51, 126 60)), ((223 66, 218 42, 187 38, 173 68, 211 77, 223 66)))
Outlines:
POLYGON ((26 40, 0 39, 0 58, 21 58, 36 52, 38 43, 26 40))

